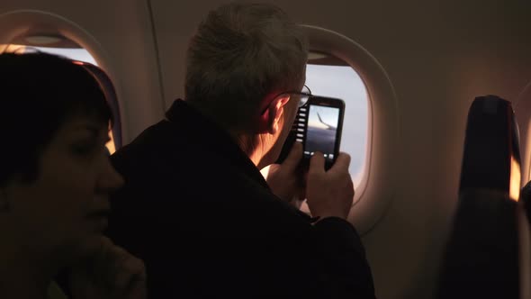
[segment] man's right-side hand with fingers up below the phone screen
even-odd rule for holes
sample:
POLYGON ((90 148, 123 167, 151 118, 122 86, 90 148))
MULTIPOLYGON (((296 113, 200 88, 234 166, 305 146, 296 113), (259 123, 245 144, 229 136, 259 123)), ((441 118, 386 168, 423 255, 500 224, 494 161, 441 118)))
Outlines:
POLYGON ((312 216, 347 219, 354 200, 349 165, 350 156, 344 152, 339 153, 329 171, 325 171, 325 159, 320 152, 311 157, 306 199, 312 216))

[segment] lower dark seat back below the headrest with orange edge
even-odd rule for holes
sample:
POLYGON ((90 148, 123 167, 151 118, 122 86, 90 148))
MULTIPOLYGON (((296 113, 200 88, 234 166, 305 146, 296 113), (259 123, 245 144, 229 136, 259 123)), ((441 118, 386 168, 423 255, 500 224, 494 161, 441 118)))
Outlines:
POLYGON ((459 196, 438 298, 519 297, 517 203, 491 189, 459 196))

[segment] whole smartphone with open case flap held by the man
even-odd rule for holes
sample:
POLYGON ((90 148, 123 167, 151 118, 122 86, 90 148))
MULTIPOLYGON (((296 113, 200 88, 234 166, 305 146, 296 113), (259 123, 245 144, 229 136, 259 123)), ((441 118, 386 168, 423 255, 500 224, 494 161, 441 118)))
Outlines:
POLYGON ((299 108, 279 159, 282 163, 290 153, 293 143, 302 142, 303 166, 308 167, 311 156, 320 151, 328 170, 338 159, 345 102, 338 98, 312 95, 308 104, 299 108))

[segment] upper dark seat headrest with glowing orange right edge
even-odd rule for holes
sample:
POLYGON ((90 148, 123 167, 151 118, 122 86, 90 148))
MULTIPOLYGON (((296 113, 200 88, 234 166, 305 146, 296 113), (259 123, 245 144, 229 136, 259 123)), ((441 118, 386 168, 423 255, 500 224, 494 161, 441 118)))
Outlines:
POLYGON ((507 193, 518 200, 518 139, 518 125, 510 102, 495 95, 476 97, 466 124, 459 193, 484 188, 507 193))

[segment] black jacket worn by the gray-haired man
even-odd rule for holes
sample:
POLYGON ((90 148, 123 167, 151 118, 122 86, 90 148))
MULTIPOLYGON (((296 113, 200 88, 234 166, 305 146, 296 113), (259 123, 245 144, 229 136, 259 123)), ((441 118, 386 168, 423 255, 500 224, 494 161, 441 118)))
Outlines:
POLYGON ((184 101, 166 117, 112 155, 126 184, 107 234, 144 260, 149 299, 374 298, 350 223, 312 224, 184 101))

